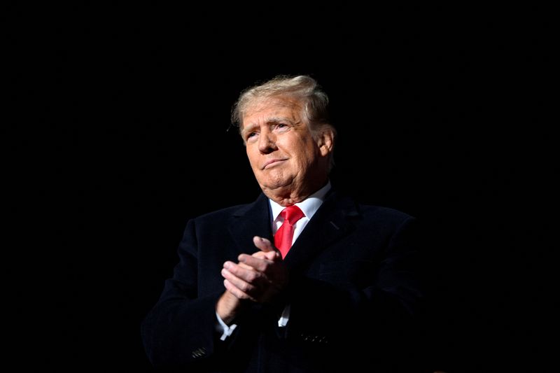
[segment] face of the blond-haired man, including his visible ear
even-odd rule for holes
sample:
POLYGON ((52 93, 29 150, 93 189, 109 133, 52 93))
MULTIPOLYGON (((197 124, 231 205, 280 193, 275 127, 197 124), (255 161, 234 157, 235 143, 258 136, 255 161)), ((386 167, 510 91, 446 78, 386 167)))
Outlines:
MULTIPOLYGON (((302 106, 287 97, 262 99, 248 107, 241 124, 253 173, 266 195, 304 195, 321 187, 330 152, 311 135, 302 106)), ((269 196, 270 197, 270 196, 269 196)))

